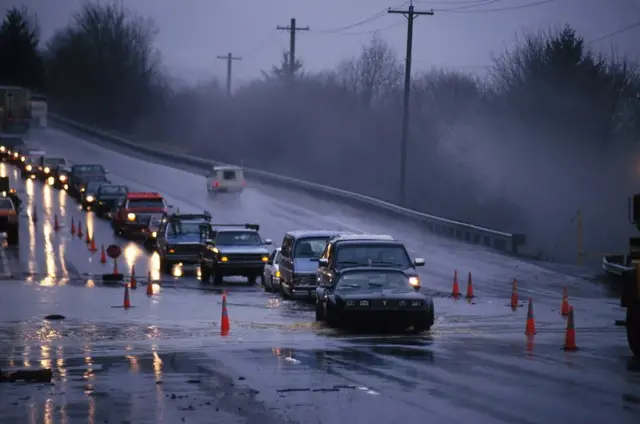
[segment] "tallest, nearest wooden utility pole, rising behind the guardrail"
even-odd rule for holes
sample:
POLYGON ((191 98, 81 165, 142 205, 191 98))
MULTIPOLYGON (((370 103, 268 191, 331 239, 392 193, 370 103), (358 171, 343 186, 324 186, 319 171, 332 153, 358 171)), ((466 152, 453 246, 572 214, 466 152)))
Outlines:
POLYGON ((402 14, 407 18, 407 55, 404 68, 404 98, 402 106, 402 145, 400 147, 400 204, 407 205, 407 148, 409 139, 409 99, 411 95, 411 53, 413 50, 413 20, 420 15, 433 16, 429 12, 417 12, 413 1, 408 10, 389 9, 389 13, 402 14))

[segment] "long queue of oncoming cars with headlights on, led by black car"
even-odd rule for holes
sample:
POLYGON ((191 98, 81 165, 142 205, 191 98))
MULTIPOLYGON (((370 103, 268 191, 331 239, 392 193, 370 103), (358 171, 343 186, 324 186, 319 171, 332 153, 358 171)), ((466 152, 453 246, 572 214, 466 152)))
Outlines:
MULTIPOLYGON (((198 266, 205 284, 222 284, 228 276, 246 277, 254 284, 260 277, 265 290, 281 292, 285 299, 315 301, 316 320, 334 327, 379 319, 420 332, 434 323, 433 301, 420 291, 417 273, 425 261, 412 260, 393 237, 289 231, 282 245, 270 251, 272 240, 262 238, 258 224, 213 223, 207 211, 173 212, 160 193, 112 184, 101 165, 71 165, 41 151, 14 153, 0 147, 5 159, 21 167, 24 178, 67 190, 84 209, 109 219, 114 234, 140 239, 157 251, 164 273, 172 273, 176 265, 198 266)), ((219 183, 211 177, 207 188, 215 190, 219 183)), ((241 181, 239 187, 244 186, 241 181)))

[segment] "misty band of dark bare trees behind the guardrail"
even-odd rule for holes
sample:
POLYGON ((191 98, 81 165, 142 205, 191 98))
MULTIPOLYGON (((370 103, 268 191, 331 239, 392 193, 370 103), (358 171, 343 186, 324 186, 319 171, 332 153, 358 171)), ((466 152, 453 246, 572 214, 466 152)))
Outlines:
MULTIPOLYGON (((398 200, 403 64, 382 38, 333 70, 296 64, 294 84, 285 59, 227 98, 215 80, 173 88, 156 34, 148 19, 93 3, 38 50, 33 19, 13 9, 0 78, 46 86, 52 110, 141 143, 398 200), (7 59, 18 56, 41 62, 7 59)), ((410 207, 525 232, 536 253, 563 259, 580 210, 589 246, 621 248, 640 180, 632 64, 593 53, 567 26, 527 35, 484 79, 431 70, 412 84, 410 207)))

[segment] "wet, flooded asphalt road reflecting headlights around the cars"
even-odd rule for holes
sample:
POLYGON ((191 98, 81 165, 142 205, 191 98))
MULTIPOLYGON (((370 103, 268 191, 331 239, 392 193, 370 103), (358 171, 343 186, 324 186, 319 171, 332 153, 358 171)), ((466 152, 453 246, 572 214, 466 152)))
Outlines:
MULTIPOLYGON (((0 282, 0 368, 51 366, 56 378, 51 387, 0 385, 0 423, 630 423, 640 416, 640 366, 613 326, 622 311, 582 270, 506 258, 252 181, 239 198, 214 199, 203 177, 185 171, 53 130, 37 141, 50 154, 102 163, 116 183, 160 191, 183 212, 259 223, 276 244, 289 229, 392 234, 425 257, 422 280, 435 296, 437 324, 422 336, 346 334, 314 323, 309 305, 238 280, 224 287, 231 334, 221 337, 219 290, 202 287, 190 270, 160 279, 153 255, 114 238, 66 194, 17 178, 29 196, 25 211, 35 207, 38 220, 23 217, 19 255, 0 257, 2 271, 14 275, 0 282), (65 226, 59 232, 55 214, 65 226), (71 237, 71 217, 98 247, 122 246, 120 270, 135 264, 139 280, 151 271, 160 280, 154 296, 140 287, 131 293, 134 308, 120 308, 123 289, 99 278, 112 265, 71 237), (463 290, 472 272, 473 302, 446 296, 456 269, 463 290), (523 334, 526 307, 507 307, 513 278, 521 297, 534 299, 533 340, 523 334), (576 312, 580 350, 572 353, 562 350, 564 285, 576 312), (52 313, 67 319, 43 321, 52 313)), ((0 173, 16 177, 6 165, 0 173)))

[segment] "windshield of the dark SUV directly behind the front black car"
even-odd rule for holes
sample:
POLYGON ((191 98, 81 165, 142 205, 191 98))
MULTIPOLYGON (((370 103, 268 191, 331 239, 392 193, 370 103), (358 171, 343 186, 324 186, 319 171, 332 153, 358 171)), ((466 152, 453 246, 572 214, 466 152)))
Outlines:
POLYGON ((404 246, 397 244, 347 244, 336 249, 338 266, 393 266, 409 268, 411 260, 404 246))

